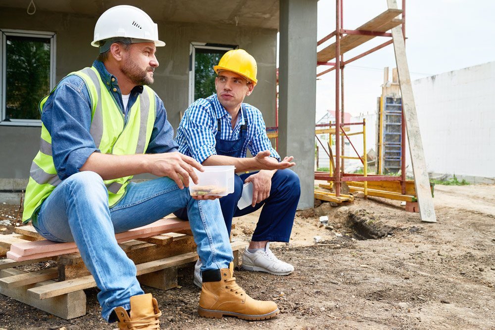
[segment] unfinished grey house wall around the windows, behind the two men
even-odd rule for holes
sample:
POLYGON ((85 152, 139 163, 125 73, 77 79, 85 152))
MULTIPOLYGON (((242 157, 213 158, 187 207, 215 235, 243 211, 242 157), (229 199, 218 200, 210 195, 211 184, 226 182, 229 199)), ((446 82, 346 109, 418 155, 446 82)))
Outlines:
MULTIPOLYGON (((0 29, 55 32, 58 82, 67 73, 91 65, 97 57, 97 48, 90 46, 97 19, 96 16, 43 11, 30 16, 25 9, 1 8, 0 29)), ((276 30, 227 24, 167 23, 156 18, 155 22, 160 39, 167 45, 158 48, 160 66, 155 70, 152 88, 163 99, 174 128, 179 124, 179 111, 188 107, 191 42, 239 45, 251 53, 258 63, 258 85, 246 101, 261 110, 267 126, 275 125, 276 30)), ((40 132, 40 127, 0 126, 0 180, 29 177, 31 161, 39 148, 40 132)))

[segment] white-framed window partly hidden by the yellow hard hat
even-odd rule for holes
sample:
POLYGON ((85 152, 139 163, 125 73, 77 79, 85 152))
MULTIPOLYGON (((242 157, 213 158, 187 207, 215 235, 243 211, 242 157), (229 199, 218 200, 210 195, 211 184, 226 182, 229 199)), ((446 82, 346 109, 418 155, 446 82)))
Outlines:
POLYGON ((191 43, 189 53, 189 104, 198 98, 215 93, 215 71, 213 66, 234 45, 191 43))

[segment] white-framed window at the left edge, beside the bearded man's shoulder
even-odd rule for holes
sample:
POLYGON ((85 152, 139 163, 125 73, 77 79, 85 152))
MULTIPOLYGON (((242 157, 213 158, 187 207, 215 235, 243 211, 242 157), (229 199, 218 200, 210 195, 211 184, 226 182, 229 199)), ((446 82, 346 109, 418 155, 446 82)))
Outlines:
POLYGON ((41 126, 40 100, 55 86, 55 34, 0 30, 0 125, 41 126))

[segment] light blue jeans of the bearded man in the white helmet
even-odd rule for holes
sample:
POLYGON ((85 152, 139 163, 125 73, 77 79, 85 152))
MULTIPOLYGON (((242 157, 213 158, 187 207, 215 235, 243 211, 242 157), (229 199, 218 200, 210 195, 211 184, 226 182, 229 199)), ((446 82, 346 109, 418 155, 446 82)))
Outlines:
POLYGON ((101 316, 108 321, 114 308, 129 310, 129 299, 143 294, 136 266, 118 246, 116 233, 142 227, 186 207, 203 261, 201 271, 228 268, 234 259, 218 200, 195 200, 169 178, 130 183, 112 208, 101 177, 79 172, 62 181, 43 202, 33 226, 45 238, 75 241, 81 257, 101 290, 101 316))

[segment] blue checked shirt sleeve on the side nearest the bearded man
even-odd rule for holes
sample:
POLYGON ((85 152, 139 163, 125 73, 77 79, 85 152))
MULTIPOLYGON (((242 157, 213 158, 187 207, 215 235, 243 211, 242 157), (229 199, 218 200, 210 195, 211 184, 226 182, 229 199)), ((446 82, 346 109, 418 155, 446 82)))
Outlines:
POLYGON ((179 151, 202 163, 216 155, 216 120, 214 109, 208 101, 198 99, 184 113, 177 132, 179 151))

